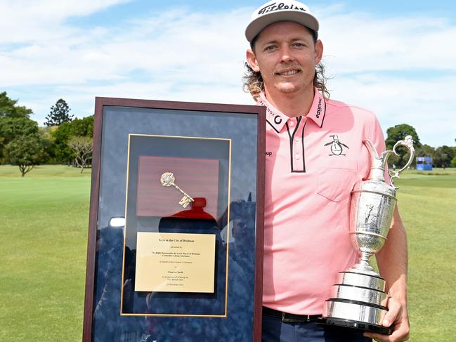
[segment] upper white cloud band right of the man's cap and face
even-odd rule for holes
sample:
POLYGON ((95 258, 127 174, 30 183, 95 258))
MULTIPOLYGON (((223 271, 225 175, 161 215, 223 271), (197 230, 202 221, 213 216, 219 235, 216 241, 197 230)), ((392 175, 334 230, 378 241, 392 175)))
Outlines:
POLYGON ((338 72, 456 71, 456 27, 432 17, 374 18, 366 13, 323 16, 320 37, 338 72))

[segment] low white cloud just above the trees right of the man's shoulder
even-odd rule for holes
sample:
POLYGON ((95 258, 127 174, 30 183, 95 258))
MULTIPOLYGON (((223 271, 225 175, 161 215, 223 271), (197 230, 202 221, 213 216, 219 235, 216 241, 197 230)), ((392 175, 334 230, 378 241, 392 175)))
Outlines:
POLYGON ((385 134, 391 126, 410 124, 422 143, 455 145, 455 76, 412 81, 363 74, 334 83, 334 98, 373 110, 385 134))

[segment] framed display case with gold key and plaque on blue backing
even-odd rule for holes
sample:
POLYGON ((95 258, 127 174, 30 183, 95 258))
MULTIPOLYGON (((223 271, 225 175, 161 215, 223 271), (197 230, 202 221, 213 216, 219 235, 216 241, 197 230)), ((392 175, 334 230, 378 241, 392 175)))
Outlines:
POLYGON ((83 341, 261 341, 265 122, 96 98, 83 341))

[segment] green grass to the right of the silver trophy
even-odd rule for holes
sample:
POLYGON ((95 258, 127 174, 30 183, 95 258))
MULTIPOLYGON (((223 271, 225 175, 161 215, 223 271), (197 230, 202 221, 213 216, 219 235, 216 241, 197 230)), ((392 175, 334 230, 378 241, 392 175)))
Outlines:
POLYGON ((395 182, 408 234, 414 342, 455 341, 456 336, 456 171, 435 173, 408 171, 395 182))

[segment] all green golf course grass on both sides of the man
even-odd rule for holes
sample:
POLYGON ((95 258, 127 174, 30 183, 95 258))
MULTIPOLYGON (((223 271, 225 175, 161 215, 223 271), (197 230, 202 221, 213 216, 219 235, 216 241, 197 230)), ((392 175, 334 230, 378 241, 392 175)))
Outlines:
MULTIPOLYGON (((90 171, 0 166, 0 341, 80 341, 90 171)), ((456 336, 456 169, 408 170, 396 185, 408 231, 414 342, 456 336)))

